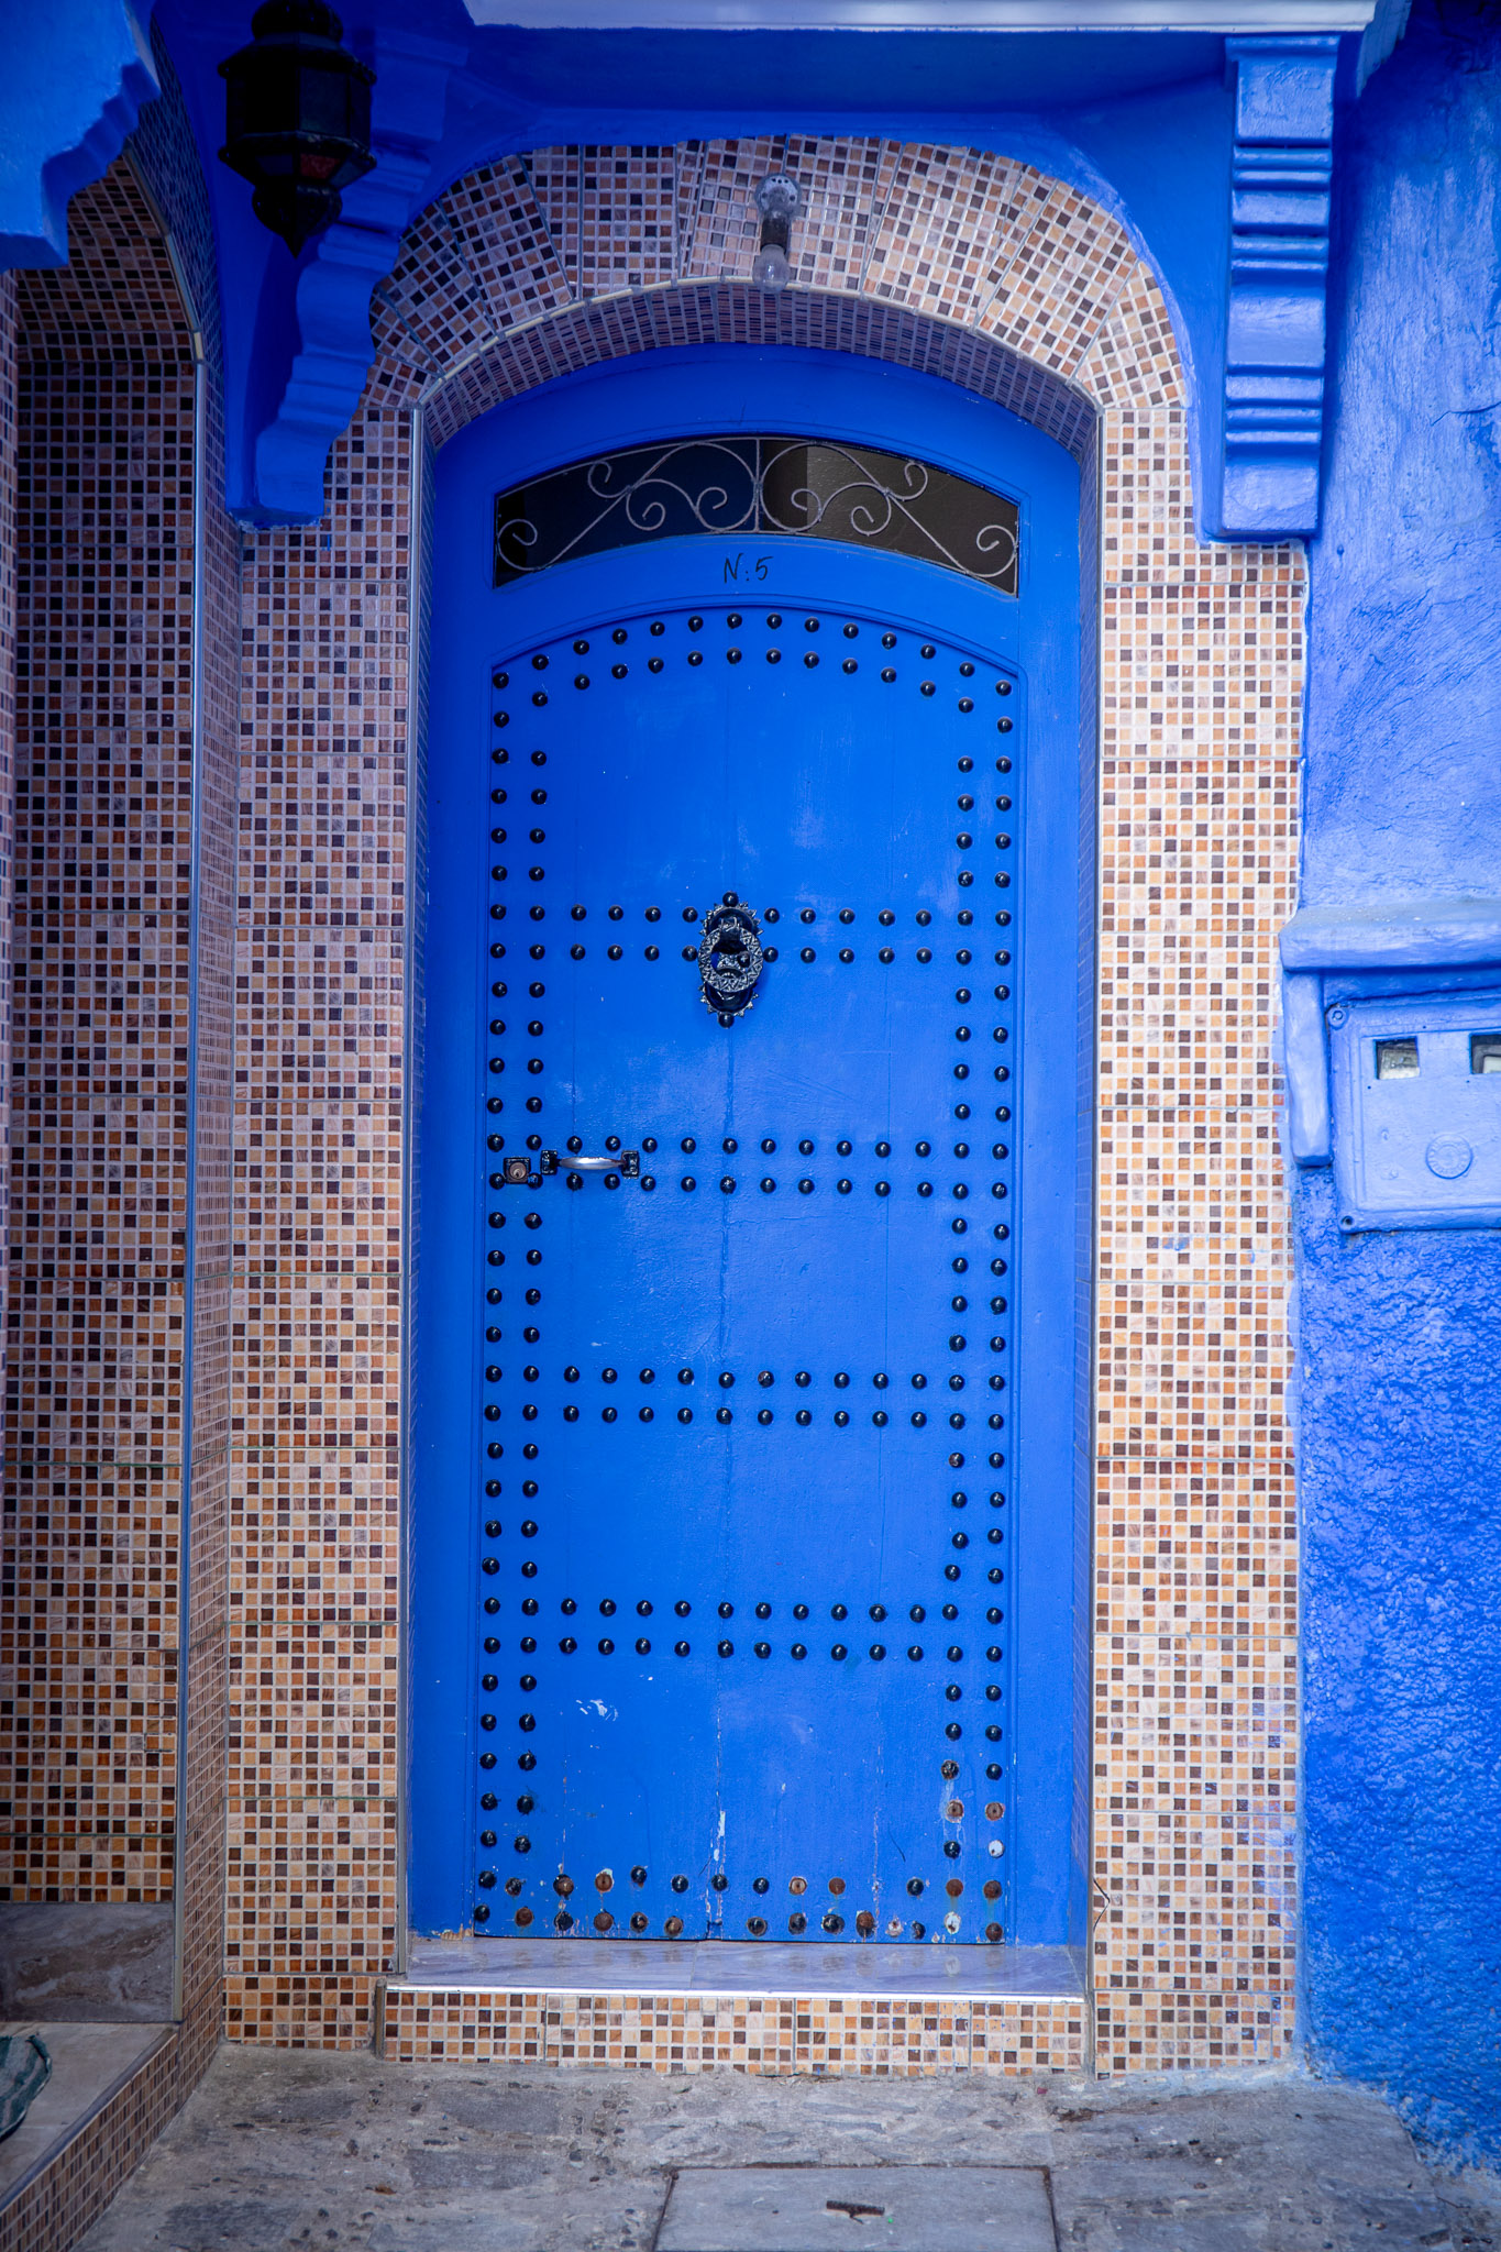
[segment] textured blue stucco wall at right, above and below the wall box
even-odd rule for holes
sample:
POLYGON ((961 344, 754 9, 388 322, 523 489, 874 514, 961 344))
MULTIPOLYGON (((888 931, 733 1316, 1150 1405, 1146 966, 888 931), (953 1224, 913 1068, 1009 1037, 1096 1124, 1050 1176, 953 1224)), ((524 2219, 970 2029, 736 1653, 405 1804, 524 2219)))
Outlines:
MULTIPOLYGON (((1496 11, 1422 5, 1346 133, 1303 899, 1496 894, 1496 11)), ((1501 1236, 1339 1241, 1328 1173, 1296 1234, 1310 2056, 1496 2164, 1501 1236)))

